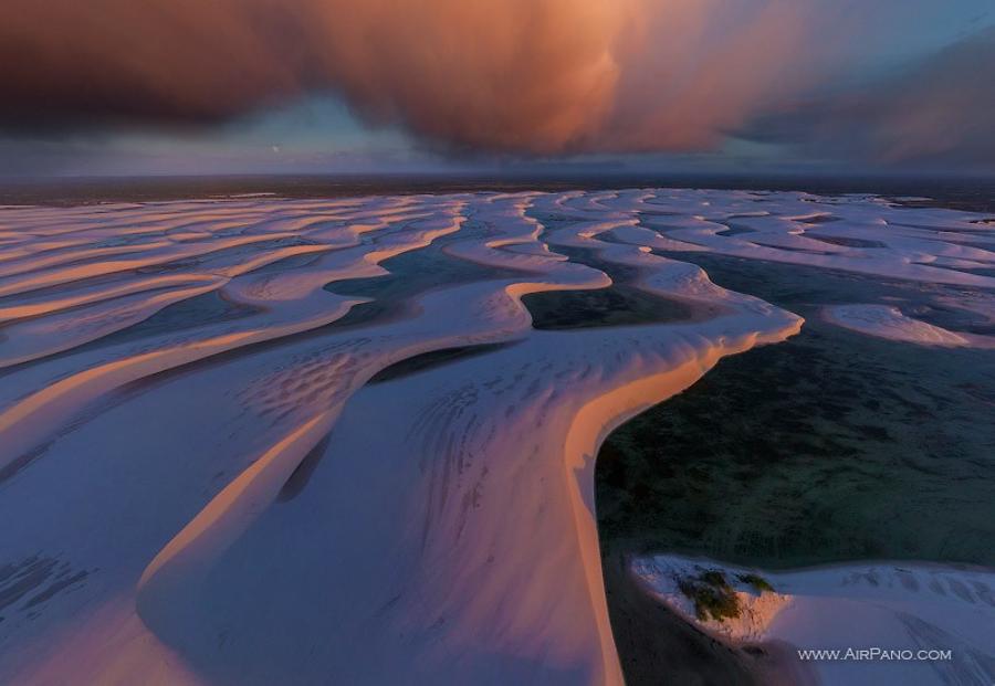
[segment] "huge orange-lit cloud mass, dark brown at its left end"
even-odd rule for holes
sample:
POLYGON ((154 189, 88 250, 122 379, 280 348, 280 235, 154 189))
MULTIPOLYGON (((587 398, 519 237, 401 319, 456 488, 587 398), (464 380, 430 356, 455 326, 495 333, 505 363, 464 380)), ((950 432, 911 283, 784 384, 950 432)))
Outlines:
POLYGON ((199 125, 331 92, 450 149, 703 149, 842 59, 831 4, 6 0, 0 126, 199 125))

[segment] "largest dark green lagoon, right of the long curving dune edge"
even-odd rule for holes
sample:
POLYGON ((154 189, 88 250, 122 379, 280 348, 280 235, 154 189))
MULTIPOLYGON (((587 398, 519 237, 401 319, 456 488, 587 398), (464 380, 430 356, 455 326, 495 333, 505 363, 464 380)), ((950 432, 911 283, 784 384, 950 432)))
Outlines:
POLYGON ((596 472, 606 555, 995 564, 995 352, 891 342, 819 318, 825 304, 889 298, 971 326, 936 303, 953 289, 693 260, 720 285, 807 321, 608 437, 596 472))

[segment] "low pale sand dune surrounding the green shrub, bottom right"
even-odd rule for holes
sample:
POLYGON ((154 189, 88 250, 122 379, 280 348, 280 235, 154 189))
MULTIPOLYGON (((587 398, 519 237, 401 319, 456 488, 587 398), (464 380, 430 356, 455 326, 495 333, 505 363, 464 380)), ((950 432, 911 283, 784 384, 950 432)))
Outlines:
POLYGON ((781 641, 794 646, 793 653, 839 651, 838 658, 808 663, 823 684, 988 684, 995 678, 992 570, 873 562, 769 572, 654 556, 633 560, 632 571, 649 592, 722 640, 781 641), (739 618, 701 621, 680 591, 681 579, 710 570, 721 571, 735 589, 739 618), (761 576, 773 591, 757 591, 741 580, 746 574, 761 576), (891 658, 860 653, 871 650, 896 653, 891 658), (950 651, 950 657, 929 653, 940 650, 950 651))

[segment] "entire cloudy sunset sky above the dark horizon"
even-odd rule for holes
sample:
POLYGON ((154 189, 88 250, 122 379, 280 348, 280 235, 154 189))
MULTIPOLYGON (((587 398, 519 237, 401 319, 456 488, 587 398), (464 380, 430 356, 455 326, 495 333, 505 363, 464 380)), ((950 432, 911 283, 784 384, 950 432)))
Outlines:
POLYGON ((995 172, 995 0, 2 0, 0 176, 995 172))

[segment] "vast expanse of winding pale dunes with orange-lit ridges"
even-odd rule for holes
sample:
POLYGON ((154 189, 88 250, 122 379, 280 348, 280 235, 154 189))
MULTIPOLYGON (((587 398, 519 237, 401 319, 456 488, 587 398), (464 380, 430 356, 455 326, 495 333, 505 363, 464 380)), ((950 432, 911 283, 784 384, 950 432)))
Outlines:
POLYGON ((601 440, 803 325, 679 253, 970 288, 991 320, 978 219, 652 189, 0 208, 0 683, 618 684, 601 440), (683 314, 523 305, 622 285, 683 314), (413 365, 444 350, 478 353, 413 365))

